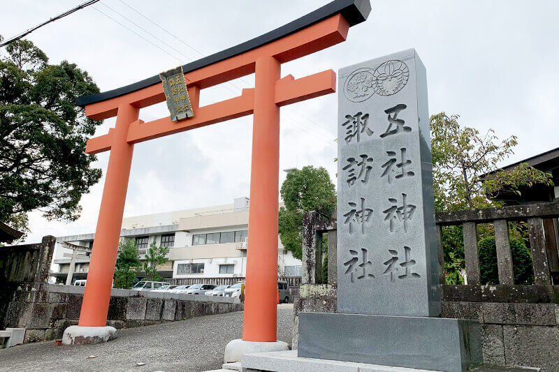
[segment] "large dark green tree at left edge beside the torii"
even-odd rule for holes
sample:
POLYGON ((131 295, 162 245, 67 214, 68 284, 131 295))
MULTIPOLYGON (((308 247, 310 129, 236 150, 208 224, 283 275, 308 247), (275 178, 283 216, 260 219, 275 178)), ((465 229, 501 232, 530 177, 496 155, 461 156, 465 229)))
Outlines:
POLYGON ((87 137, 101 121, 85 117, 75 98, 99 88, 75 64, 48 64, 19 40, 0 55, 0 221, 27 228, 27 212, 73 221, 82 194, 99 181, 87 137))

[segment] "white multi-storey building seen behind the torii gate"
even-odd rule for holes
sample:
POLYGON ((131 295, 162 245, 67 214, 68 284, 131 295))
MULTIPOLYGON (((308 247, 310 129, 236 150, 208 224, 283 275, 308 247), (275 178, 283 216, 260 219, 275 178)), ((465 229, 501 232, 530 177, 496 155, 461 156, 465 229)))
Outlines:
MULTIPOLYGON (((136 239, 140 260, 152 241, 168 246, 168 262, 158 267, 164 278, 243 278, 248 221, 249 199, 236 198, 233 204, 127 217, 122 221, 120 236, 136 239)), ((68 273, 72 251, 61 246, 63 241, 88 247, 93 239, 93 233, 58 237, 52 276, 65 281, 68 273)), ((73 279, 86 278, 88 269, 89 256, 82 255, 76 260, 73 279)), ((279 237, 277 269, 279 276, 301 274, 300 260, 283 248, 279 237)))

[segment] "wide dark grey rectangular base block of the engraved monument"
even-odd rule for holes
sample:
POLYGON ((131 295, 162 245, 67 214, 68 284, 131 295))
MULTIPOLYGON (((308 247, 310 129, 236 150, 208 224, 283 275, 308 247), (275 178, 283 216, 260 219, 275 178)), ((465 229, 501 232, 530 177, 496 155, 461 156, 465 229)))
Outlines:
POLYGON ((475 320, 299 313, 298 356, 463 372, 483 362, 480 329, 475 320))

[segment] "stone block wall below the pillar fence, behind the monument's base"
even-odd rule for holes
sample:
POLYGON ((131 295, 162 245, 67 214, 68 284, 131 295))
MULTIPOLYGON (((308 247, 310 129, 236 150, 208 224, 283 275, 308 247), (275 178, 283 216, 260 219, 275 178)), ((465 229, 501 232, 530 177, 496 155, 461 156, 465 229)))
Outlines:
MULTIPOLYGON (((335 285, 301 285, 298 313, 336 311, 335 285)), ((484 363, 559 371, 559 285, 442 285, 442 317, 479 320, 484 363)))

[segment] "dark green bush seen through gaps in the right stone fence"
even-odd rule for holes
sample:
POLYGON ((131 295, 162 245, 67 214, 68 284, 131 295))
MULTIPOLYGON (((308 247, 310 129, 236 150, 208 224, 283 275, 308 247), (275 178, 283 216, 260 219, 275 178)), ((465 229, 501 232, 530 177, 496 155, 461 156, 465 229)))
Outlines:
MULTIPOLYGON (((481 284, 499 284, 495 238, 487 237, 481 239, 477 246, 481 284)), ((510 246, 514 284, 532 284, 534 282, 534 270, 532 269, 530 250, 519 239, 510 239, 510 246)))

